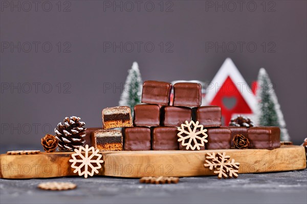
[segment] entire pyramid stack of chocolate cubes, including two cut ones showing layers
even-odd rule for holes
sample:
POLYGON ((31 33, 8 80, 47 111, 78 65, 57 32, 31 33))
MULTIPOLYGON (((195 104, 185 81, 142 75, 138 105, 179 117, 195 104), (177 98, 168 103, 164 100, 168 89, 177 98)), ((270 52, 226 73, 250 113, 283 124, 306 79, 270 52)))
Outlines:
POLYGON ((92 146, 101 151, 186 150, 178 143, 178 127, 191 120, 207 129, 208 142, 201 149, 229 149, 238 134, 249 139, 249 148, 280 146, 278 127, 222 126, 220 107, 201 106, 201 89, 198 83, 144 82, 142 104, 134 107, 133 122, 129 107, 103 109, 103 130, 92 130, 92 146), (117 127, 123 127, 122 131, 114 129, 117 127))

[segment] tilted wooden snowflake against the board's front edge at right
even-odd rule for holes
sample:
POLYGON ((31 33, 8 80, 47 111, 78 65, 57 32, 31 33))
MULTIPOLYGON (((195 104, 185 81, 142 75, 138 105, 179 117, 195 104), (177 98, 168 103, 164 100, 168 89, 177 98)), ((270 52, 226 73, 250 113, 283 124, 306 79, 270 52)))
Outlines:
POLYGON ((237 172, 239 171, 239 163, 234 162, 234 159, 229 161, 230 156, 226 155, 226 152, 220 153, 217 155, 215 153, 207 153, 205 167, 209 167, 210 170, 214 169, 214 173, 218 174, 218 179, 229 179, 238 177, 237 172))

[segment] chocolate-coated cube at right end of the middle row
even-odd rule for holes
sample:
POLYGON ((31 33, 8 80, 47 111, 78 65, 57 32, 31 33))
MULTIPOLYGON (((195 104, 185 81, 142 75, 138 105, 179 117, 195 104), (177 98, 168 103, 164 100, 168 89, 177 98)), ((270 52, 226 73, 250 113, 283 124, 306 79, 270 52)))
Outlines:
POLYGON ((192 119, 199 121, 204 127, 220 127, 222 125, 221 107, 202 106, 193 108, 192 119))

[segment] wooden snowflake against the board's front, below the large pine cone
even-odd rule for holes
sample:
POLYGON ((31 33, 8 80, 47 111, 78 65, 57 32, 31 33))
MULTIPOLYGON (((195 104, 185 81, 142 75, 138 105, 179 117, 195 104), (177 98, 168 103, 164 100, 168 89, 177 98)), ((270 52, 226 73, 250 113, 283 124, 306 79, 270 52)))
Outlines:
POLYGON ((89 145, 75 149, 75 154, 72 155, 73 159, 70 159, 69 162, 72 162, 72 168, 74 168, 74 173, 78 172, 79 176, 84 175, 84 178, 87 178, 87 175, 93 176, 94 173, 98 173, 98 169, 102 166, 100 163, 103 163, 102 155, 98 154, 99 149, 95 151, 94 147, 89 148, 89 145), (95 159, 94 159, 95 158, 95 159))

